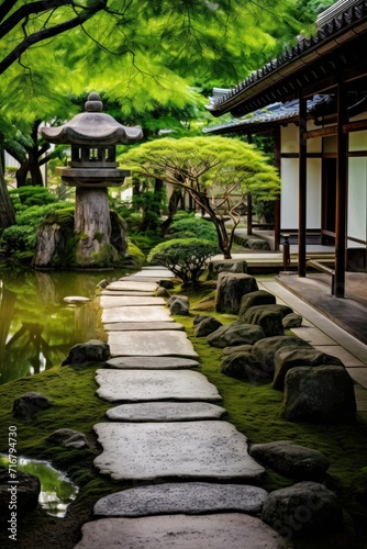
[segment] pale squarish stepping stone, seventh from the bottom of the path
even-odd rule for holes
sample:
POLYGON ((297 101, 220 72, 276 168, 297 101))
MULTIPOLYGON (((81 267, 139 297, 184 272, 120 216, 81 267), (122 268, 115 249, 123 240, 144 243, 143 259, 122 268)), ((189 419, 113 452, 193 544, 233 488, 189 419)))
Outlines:
POLYGON ((198 354, 186 333, 180 330, 149 330, 144 332, 144 335, 138 332, 109 332, 108 344, 112 357, 178 356, 198 358, 198 354))

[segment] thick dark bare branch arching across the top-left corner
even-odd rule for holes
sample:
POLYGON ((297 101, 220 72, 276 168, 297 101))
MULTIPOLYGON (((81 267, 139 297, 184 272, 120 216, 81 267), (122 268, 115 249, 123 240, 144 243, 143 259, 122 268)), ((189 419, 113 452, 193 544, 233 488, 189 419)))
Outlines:
POLYGON ((16 59, 19 59, 29 47, 46 38, 57 36, 58 34, 70 31, 71 29, 84 24, 96 13, 104 10, 107 7, 107 2, 108 0, 100 0, 98 3, 96 3, 96 5, 93 5, 93 8, 82 9, 82 11, 78 13, 76 18, 70 19, 69 21, 65 21, 64 23, 59 23, 48 29, 43 29, 42 31, 37 31, 26 36, 25 40, 23 40, 16 47, 14 47, 14 49, 9 55, 7 55, 7 57, 2 59, 2 61, 0 61, 0 75, 4 72, 4 70, 7 70, 7 68, 9 68, 16 59))

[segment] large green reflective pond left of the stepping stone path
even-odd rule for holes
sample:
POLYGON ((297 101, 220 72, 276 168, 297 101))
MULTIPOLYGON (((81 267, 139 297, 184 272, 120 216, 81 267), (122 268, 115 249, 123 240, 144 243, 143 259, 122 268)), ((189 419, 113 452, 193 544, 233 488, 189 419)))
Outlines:
POLYGON ((96 336, 91 303, 69 305, 68 295, 93 298, 102 279, 126 271, 0 271, 0 384, 60 363, 70 347, 96 336))

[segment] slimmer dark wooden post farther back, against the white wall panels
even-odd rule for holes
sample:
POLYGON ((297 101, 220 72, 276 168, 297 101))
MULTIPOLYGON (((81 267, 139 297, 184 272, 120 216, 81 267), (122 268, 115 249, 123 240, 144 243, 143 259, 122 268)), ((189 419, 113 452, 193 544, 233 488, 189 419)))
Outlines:
POLYGON ((305 231, 307 231, 307 100, 300 91, 299 99, 299 231, 298 276, 305 277, 305 231))

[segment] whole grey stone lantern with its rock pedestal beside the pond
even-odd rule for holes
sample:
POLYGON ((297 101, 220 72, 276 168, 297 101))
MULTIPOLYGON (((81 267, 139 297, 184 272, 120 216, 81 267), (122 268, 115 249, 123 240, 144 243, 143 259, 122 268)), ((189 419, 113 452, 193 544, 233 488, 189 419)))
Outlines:
MULTIPOLYGON (((43 127, 51 143, 71 145, 67 168, 58 168, 65 184, 76 187, 74 214, 75 249, 70 267, 102 268, 120 266, 127 253, 126 225, 110 212, 108 187, 121 186, 130 171, 118 168, 115 145, 131 144, 143 137, 140 126, 126 127, 102 111, 98 93, 86 102, 86 112, 58 127, 43 127)), ((40 227, 33 265, 36 268, 67 267, 63 264, 67 229, 58 220, 40 227)))

